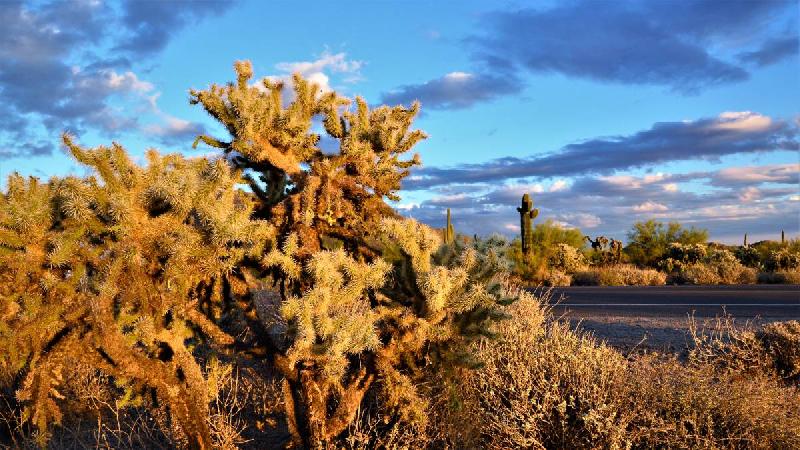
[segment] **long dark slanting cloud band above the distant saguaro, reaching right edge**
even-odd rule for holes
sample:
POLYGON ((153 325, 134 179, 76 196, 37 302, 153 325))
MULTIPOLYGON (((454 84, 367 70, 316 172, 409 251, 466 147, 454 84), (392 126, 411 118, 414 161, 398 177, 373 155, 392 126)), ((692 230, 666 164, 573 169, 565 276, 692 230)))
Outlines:
POLYGON ((669 161, 713 160, 737 153, 798 150, 797 137, 797 126, 792 123, 749 111, 725 112, 714 118, 659 122, 632 135, 589 139, 542 156, 504 157, 450 168, 421 168, 404 187, 413 190, 450 183, 607 174, 669 161))

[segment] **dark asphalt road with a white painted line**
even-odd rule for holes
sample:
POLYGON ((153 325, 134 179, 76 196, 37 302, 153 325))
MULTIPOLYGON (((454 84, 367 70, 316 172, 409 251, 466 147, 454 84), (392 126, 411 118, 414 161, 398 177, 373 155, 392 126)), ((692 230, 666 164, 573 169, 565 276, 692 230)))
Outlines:
POLYGON ((737 319, 800 319, 800 285, 627 286, 554 288, 556 313, 573 318, 713 318, 724 311, 737 319))

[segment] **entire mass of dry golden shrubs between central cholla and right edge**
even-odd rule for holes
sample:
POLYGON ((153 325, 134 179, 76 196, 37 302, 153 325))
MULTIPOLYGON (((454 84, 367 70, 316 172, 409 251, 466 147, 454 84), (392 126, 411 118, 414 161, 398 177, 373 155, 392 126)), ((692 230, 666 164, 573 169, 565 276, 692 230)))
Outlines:
MULTIPOLYGON (((438 425, 458 430, 452 447, 800 445, 800 391, 775 375, 776 358, 761 335, 734 330, 735 343, 721 331, 703 335, 687 362, 654 354, 626 359, 552 321, 535 300, 506 311, 502 338, 476 344, 486 366, 465 374, 461 402, 438 425)), ((727 326, 716 330, 733 330, 727 326)), ((792 343, 781 348, 796 355, 796 331, 779 334, 792 343)))

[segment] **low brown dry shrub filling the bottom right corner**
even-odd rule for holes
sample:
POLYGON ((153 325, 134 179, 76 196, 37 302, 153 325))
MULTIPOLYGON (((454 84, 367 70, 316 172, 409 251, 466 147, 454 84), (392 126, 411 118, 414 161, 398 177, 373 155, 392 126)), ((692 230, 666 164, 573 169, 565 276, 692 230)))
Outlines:
POLYGON ((800 391, 769 375, 644 356, 632 361, 625 380, 634 448, 800 445, 800 391))

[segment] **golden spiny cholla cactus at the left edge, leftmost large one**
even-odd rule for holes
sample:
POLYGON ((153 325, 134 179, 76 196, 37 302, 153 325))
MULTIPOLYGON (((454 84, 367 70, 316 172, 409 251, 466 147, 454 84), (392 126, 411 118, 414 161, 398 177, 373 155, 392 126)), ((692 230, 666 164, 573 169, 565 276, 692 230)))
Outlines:
POLYGON ((186 340, 232 342, 214 324, 223 286, 236 290, 237 265, 272 229, 250 220, 222 160, 149 152, 141 168, 116 144, 64 141, 97 178, 13 175, 0 196, 0 369, 14 374, 0 382, 46 436, 65 365, 84 361, 129 392, 152 389, 186 443, 209 448, 207 389, 186 340))

